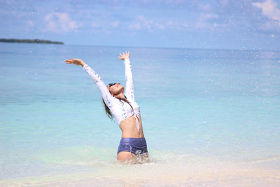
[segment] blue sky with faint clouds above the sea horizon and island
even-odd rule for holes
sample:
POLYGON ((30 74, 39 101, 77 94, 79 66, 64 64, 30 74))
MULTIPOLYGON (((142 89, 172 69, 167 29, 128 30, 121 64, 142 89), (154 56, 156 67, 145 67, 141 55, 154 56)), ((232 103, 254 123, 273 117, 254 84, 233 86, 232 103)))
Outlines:
POLYGON ((280 50, 279 0, 0 0, 0 38, 280 50))

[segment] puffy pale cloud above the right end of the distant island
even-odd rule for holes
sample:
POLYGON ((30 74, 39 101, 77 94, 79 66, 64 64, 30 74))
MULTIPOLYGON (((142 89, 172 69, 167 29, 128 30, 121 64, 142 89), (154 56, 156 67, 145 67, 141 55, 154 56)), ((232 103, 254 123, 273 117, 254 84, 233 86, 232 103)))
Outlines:
POLYGON ((67 13, 49 13, 45 16, 45 27, 50 32, 60 33, 75 30, 79 27, 76 21, 72 21, 67 13))

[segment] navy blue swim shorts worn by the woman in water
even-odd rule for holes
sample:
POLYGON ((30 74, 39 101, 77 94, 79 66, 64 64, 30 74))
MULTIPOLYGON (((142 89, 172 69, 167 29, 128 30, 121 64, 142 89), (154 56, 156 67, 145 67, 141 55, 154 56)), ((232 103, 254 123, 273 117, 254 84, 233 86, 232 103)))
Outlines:
POLYGON ((146 139, 143 138, 122 138, 118 146, 118 153, 120 151, 127 151, 134 153, 134 155, 147 153, 146 139))

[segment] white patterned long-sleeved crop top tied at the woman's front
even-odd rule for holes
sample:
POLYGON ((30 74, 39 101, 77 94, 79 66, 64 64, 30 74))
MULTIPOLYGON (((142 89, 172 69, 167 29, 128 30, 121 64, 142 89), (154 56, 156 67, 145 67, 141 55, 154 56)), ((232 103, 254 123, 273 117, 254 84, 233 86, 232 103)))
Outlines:
POLYGON ((139 127, 139 121, 137 116, 141 116, 141 115, 140 115, 140 107, 134 101, 132 67, 130 65, 129 59, 125 59, 124 63, 125 63, 125 79, 126 79, 124 95, 127 97, 127 100, 130 102, 133 109, 130 106, 130 104, 127 104, 127 102, 123 102, 120 99, 113 97, 109 92, 107 86, 102 81, 102 78, 97 73, 95 73, 87 64, 83 66, 83 69, 87 71, 87 74, 89 74, 90 77, 93 79, 93 81, 97 84, 97 87, 102 92, 102 98, 104 99, 105 104, 109 107, 118 125, 120 125, 120 123, 123 120, 130 118, 130 116, 134 115, 134 118, 137 122, 137 128, 139 131, 140 127, 139 127))

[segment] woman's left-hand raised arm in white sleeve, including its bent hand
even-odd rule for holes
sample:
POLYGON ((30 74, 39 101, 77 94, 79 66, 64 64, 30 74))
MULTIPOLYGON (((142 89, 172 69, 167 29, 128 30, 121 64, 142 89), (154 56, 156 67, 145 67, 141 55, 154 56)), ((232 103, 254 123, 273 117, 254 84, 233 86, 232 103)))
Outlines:
POLYGON ((81 65, 85 71, 87 71, 87 74, 90 75, 92 80, 97 84, 97 87, 102 92, 102 98, 104 99, 105 104, 109 107, 109 109, 112 108, 113 104, 113 96, 109 92, 107 86, 104 84, 102 78, 93 71, 83 60, 80 59, 69 59, 65 60, 67 64, 75 64, 75 65, 81 65))

